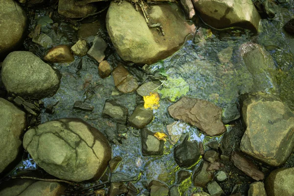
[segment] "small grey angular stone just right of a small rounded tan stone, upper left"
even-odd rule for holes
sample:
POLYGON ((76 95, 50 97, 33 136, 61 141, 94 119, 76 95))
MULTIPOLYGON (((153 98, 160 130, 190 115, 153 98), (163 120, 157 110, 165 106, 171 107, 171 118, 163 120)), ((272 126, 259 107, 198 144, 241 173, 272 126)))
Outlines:
POLYGON ((87 55, 96 60, 98 63, 101 63, 101 61, 103 61, 103 59, 105 58, 104 51, 107 46, 108 45, 102 38, 96 36, 93 41, 93 46, 91 47, 91 49, 89 49, 87 55))

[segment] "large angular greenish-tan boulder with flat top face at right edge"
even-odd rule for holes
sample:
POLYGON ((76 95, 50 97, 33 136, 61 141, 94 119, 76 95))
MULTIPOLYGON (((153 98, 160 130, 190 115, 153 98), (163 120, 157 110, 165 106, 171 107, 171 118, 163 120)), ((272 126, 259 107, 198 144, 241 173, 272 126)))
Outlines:
POLYGON ((294 147, 294 113, 270 94, 247 94, 241 99, 246 126, 241 150, 270 166, 284 164, 294 147))

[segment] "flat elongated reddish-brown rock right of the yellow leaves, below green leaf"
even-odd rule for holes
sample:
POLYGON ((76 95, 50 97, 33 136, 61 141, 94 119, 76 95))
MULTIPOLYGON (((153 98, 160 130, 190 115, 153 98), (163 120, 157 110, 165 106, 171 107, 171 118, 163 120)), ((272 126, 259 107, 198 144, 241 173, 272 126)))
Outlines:
POLYGON ((221 135, 226 131, 221 122, 221 108, 209 101, 183 97, 172 104, 168 111, 172 118, 190 123, 209 136, 221 135))

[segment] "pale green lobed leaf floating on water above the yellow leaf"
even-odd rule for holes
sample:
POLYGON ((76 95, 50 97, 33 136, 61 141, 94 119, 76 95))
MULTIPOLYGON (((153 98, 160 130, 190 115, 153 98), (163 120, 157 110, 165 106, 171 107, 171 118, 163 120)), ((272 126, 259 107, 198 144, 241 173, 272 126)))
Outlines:
POLYGON ((158 90, 158 93, 162 94, 161 98, 169 98, 171 101, 186 95, 189 91, 189 85, 182 77, 168 76, 163 83, 163 87, 163 89, 158 90))

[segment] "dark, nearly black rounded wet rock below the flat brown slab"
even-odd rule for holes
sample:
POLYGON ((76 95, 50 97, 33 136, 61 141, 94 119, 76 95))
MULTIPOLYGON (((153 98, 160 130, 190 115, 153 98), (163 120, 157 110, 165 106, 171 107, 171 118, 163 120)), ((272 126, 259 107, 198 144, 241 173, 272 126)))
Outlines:
POLYGON ((190 168, 198 161, 199 157, 198 143, 188 141, 188 136, 173 150, 173 158, 180 168, 190 168))

